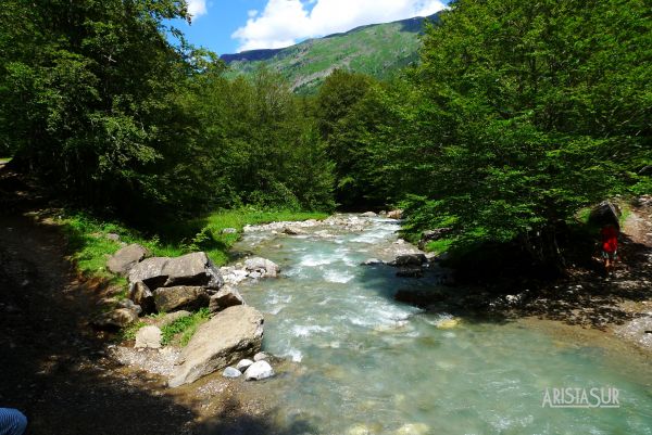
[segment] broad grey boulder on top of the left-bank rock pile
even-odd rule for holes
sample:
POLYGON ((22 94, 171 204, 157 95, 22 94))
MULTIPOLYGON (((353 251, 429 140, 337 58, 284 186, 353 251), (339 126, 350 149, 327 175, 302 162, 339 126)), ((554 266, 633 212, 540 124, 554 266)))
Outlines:
POLYGON ((150 289, 174 285, 202 285, 208 289, 220 289, 224 285, 220 270, 202 252, 175 258, 147 258, 129 271, 129 282, 138 281, 145 282, 150 289))

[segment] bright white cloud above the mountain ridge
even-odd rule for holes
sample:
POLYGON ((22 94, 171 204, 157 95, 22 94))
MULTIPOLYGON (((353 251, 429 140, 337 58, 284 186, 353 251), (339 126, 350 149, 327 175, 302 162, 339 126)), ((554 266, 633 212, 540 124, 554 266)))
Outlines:
POLYGON ((444 8, 441 0, 267 0, 265 10, 250 14, 231 38, 240 41, 239 51, 283 48, 303 38, 427 16, 444 8))

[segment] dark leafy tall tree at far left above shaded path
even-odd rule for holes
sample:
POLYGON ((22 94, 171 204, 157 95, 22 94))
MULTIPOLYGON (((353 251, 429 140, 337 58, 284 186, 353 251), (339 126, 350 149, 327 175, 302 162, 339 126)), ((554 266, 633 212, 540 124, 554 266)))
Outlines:
POLYGON ((4 2, 0 142, 14 166, 124 213, 196 207, 202 183, 179 188, 201 178, 186 170, 197 153, 178 95, 199 65, 168 42, 175 17, 188 18, 185 1, 4 2))

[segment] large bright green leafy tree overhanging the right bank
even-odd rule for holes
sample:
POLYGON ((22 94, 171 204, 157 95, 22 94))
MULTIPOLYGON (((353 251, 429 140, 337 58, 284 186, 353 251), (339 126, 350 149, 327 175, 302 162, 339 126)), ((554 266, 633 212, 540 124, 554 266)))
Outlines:
POLYGON ((651 26, 639 0, 453 2, 413 74, 424 103, 404 107, 423 142, 392 159, 427 145, 412 158, 429 187, 412 229, 517 239, 559 263, 562 223, 625 192, 650 161, 651 26))

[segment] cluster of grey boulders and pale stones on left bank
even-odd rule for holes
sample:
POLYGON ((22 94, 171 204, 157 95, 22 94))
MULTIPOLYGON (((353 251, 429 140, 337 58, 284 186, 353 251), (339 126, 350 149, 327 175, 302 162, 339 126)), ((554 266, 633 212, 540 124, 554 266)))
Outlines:
MULTIPOLYGON (((147 258, 148 255, 147 250, 134 244, 109 259, 111 271, 127 277, 129 298, 99 316, 96 325, 123 328, 140 315, 167 312, 159 324, 143 327, 136 333, 135 347, 159 349, 161 328, 190 316, 188 310, 209 307, 211 319, 197 329, 180 350, 168 385, 176 387, 195 382, 254 355, 259 355, 260 361, 246 370, 246 379, 274 374, 266 358, 260 356, 263 316, 246 305, 237 289, 225 283, 221 270, 205 253, 174 258, 147 258)), ((243 269, 249 278, 276 277, 279 271, 277 265, 264 258, 248 259, 243 269)))

